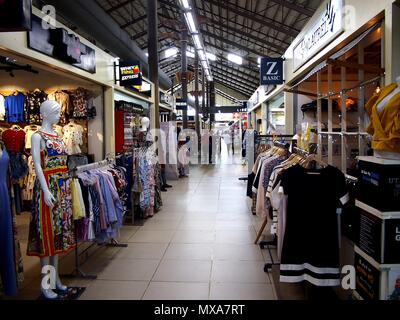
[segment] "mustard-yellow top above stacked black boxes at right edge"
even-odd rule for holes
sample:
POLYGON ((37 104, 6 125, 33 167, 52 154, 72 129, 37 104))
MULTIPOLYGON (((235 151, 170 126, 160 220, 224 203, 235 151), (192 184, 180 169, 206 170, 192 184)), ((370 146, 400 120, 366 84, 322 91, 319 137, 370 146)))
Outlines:
POLYGON ((397 88, 393 83, 375 94, 365 105, 371 119, 367 132, 373 135, 372 149, 400 153, 400 93, 395 94, 378 114, 378 105, 397 88))

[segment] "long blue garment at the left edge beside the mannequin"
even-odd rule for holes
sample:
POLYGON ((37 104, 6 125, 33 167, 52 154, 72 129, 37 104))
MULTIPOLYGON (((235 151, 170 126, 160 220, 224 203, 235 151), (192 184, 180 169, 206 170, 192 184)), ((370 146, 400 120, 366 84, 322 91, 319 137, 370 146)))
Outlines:
POLYGON ((7 296, 17 294, 17 274, 14 255, 14 234, 9 190, 7 186, 7 170, 9 156, 6 149, 0 158, 0 276, 7 296))

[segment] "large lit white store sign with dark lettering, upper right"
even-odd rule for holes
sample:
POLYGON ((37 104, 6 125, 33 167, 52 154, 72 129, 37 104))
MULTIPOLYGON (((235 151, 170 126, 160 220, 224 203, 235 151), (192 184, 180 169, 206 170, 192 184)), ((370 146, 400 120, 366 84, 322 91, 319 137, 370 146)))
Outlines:
POLYGON ((317 52, 344 31, 343 0, 329 0, 325 11, 316 19, 293 49, 293 68, 299 69, 317 52))

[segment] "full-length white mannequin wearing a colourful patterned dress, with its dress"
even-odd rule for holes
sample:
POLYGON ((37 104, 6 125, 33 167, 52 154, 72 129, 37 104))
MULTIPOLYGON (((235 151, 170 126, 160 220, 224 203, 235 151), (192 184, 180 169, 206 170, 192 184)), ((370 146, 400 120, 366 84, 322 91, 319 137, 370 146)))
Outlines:
MULTIPOLYGON (((69 190, 66 177, 67 155, 64 152, 63 142, 53 127, 60 120, 61 107, 56 101, 48 100, 40 106, 40 113, 43 118, 42 126, 32 135, 31 141, 36 172, 33 194, 36 199, 33 200, 32 205, 34 209, 30 222, 27 254, 40 257, 42 267, 54 267, 56 290, 58 293, 66 293, 68 288, 61 283, 58 274, 58 254, 68 252, 69 249, 74 248, 75 243, 71 241, 74 239, 72 222, 69 228, 69 212, 66 209, 68 200, 65 194, 69 190), (49 158, 51 162, 47 162, 49 158), (58 189, 63 191, 57 191, 58 189), (48 223, 46 225, 46 221, 49 222, 49 220, 50 227, 48 223), (62 226, 61 230, 60 226, 62 226)), ((45 289, 42 286, 41 291, 46 299, 58 298, 58 294, 52 289, 45 289)))

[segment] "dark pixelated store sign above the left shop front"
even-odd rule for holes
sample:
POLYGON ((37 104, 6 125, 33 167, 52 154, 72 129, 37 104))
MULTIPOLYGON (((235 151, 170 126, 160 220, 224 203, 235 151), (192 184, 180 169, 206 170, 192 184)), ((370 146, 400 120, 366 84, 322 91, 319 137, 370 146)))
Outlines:
POLYGON ((37 16, 32 16, 28 47, 84 71, 96 73, 96 52, 92 48, 63 28, 43 28, 42 20, 37 16))

